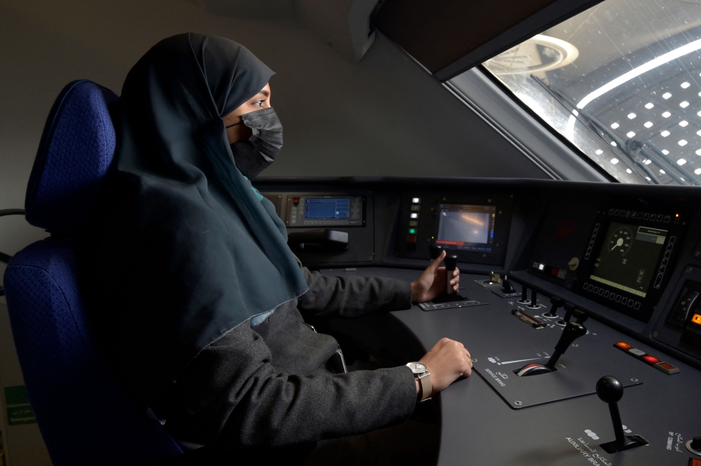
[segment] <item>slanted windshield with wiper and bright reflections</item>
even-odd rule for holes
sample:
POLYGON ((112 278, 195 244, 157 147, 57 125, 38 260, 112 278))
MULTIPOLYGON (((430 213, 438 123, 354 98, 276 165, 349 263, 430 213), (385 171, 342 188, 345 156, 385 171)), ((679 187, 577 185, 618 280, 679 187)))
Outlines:
POLYGON ((701 0, 606 0, 483 65, 618 181, 701 186, 701 0))

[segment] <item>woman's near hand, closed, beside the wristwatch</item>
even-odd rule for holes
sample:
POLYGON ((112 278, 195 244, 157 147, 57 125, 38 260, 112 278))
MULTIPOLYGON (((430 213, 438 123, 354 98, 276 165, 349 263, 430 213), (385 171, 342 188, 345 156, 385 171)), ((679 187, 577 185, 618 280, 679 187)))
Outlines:
MULTIPOLYGON (((463 343, 451 340, 450 338, 441 338, 419 362, 426 364, 431 374, 431 385, 433 387, 432 396, 444 390, 444 388, 447 388, 448 385, 458 378, 467 377, 472 374, 472 358, 470 357, 470 352, 465 349, 463 343)), ((417 381, 417 394, 418 390, 417 381)))

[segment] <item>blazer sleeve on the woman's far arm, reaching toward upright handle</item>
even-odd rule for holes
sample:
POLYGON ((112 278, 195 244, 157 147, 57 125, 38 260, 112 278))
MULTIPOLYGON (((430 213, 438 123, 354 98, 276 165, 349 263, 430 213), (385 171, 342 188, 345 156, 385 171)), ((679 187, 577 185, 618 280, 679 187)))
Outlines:
POLYGON ((303 267, 309 286, 297 308, 304 315, 358 317, 411 308, 411 283, 383 277, 327 277, 303 267))

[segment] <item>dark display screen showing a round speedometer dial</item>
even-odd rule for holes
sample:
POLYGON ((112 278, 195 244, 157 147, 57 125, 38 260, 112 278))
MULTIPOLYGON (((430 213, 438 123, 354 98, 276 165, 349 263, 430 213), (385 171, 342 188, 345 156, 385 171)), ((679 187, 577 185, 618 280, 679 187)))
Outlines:
POLYGON ((591 280, 644 298, 666 239, 667 230, 612 222, 591 280))

